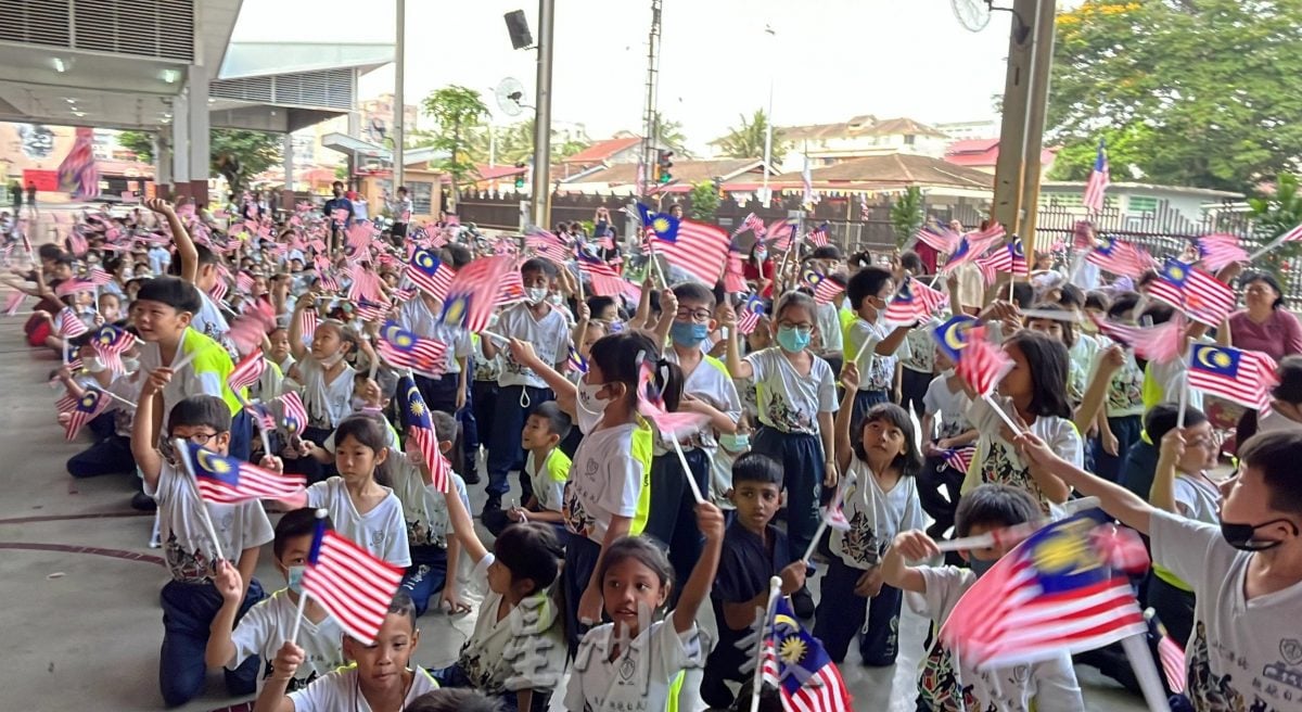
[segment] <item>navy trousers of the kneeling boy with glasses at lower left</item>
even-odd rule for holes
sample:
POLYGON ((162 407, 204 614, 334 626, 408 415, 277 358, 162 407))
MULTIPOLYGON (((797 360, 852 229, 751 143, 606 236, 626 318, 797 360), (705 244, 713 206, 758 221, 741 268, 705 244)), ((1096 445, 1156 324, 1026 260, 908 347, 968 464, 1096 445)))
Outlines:
MULTIPOLYGON (((240 604, 236 621, 264 597, 258 579, 249 582, 249 592, 240 604)), ((163 650, 159 652, 159 689, 168 707, 177 707, 203 691, 208 666, 203 661, 208 646, 208 629, 221 609, 221 594, 211 583, 168 582, 163 587, 163 650)), ((227 691, 251 695, 258 687, 262 665, 256 655, 249 656, 234 670, 223 670, 227 691)))

